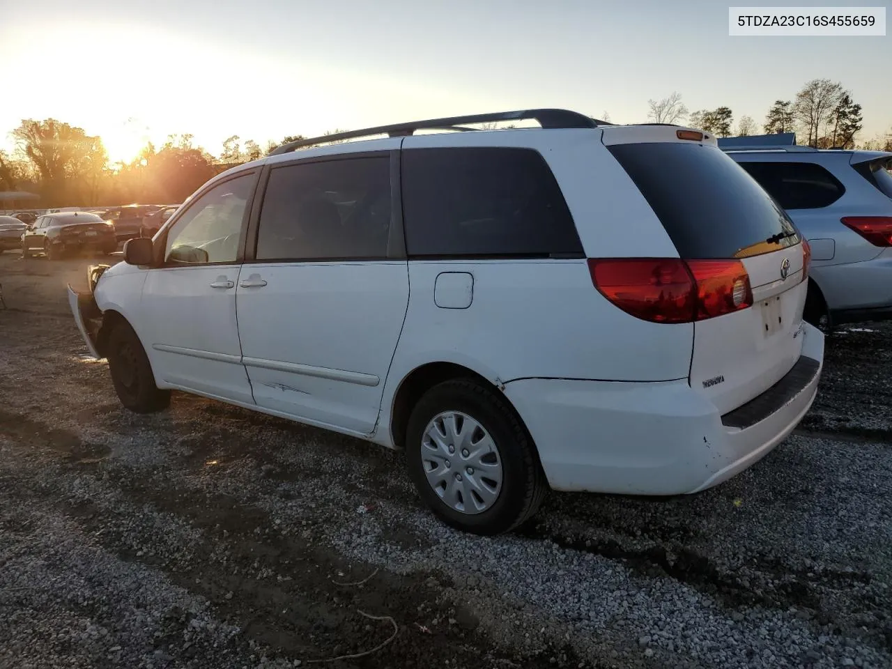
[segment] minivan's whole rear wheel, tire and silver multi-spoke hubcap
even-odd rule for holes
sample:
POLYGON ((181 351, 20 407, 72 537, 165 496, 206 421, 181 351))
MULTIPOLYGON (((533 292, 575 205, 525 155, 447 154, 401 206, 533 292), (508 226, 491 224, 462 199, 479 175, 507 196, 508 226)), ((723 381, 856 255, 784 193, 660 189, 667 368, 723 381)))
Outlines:
POLYGON ((435 385, 409 416, 409 476, 447 524, 499 534, 532 517, 548 489, 535 446, 498 392, 471 379, 435 385))

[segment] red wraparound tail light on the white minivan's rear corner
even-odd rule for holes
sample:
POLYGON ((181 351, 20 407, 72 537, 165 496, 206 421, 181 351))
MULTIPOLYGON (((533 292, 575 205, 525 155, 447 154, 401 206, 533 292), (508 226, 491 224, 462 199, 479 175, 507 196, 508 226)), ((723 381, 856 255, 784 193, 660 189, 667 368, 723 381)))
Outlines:
POLYGON ((607 300, 653 323, 692 323, 753 304, 740 260, 590 259, 589 271, 607 300))

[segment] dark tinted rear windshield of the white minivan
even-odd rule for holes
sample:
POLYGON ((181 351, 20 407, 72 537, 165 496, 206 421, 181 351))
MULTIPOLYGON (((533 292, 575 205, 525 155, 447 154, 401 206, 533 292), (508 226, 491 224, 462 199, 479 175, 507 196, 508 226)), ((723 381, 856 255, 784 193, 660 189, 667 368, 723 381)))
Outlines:
POLYGON ((746 258, 800 241, 787 213, 721 149, 678 142, 608 148, 681 258, 746 258))

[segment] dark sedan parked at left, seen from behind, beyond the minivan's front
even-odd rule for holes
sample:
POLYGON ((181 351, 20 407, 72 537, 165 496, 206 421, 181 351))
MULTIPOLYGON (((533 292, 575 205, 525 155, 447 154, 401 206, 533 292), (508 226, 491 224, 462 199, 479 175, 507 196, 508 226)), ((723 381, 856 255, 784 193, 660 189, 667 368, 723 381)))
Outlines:
POLYGON ((118 248, 111 223, 87 211, 61 211, 38 217, 20 244, 25 258, 45 253, 50 260, 74 252, 109 254, 118 248))

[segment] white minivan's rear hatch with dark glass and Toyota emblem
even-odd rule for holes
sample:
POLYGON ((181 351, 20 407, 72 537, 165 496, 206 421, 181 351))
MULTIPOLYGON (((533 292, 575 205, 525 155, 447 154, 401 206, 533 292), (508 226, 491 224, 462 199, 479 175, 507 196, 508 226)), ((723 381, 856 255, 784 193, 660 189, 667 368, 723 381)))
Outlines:
POLYGON ((807 244, 714 141, 675 139, 686 136, 677 129, 651 128, 658 139, 635 133, 633 142, 606 132, 604 142, 690 268, 701 301, 690 386, 724 414, 768 390, 799 359, 807 244))

